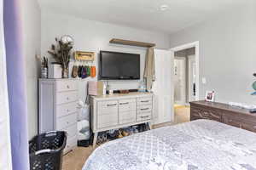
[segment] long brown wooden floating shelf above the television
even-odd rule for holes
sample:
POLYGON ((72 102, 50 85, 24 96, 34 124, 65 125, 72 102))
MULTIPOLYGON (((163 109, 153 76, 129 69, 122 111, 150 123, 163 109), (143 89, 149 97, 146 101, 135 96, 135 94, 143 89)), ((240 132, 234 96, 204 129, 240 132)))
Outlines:
POLYGON ((122 45, 131 45, 131 46, 143 47, 143 48, 152 48, 152 47, 155 46, 154 43, 136 42, 136 41, 130 41, 130 40, 117 39, 117 38, 113 38, 109 42, 110 43, 122 44, 122 45))

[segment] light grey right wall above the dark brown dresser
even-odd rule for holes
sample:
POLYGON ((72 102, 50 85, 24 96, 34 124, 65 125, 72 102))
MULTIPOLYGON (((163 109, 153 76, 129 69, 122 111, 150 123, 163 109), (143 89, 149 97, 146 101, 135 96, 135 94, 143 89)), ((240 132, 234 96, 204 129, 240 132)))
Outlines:
MULTIPOLYGON (((251 2, 251 3, 249 3, 251 2)), ((200 73, 207 84, 200 84, 200 97, 214 89, 217 101, 255 104, 253 72, 256 71, 256 5, 172 34, 171 47, 200 42, 200 73)))

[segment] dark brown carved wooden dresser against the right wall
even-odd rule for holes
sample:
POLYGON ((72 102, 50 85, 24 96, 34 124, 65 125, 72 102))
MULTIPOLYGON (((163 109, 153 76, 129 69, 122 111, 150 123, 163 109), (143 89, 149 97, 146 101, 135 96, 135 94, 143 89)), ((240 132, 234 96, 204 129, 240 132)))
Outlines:
POLYGON ((209 119, 256 133, 256 114, 247 109, 217 102, 190 102, 190 121, 209 119))

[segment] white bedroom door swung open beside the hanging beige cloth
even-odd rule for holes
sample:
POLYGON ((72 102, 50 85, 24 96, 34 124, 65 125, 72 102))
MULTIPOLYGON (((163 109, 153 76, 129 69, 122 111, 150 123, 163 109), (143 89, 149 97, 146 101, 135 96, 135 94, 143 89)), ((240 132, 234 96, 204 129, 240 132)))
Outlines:
POLYGON ((154 49, 154 65, 155 82, 152 88, 154 92, 154 124, 172 122, 174 112, 171 51, 154 49))

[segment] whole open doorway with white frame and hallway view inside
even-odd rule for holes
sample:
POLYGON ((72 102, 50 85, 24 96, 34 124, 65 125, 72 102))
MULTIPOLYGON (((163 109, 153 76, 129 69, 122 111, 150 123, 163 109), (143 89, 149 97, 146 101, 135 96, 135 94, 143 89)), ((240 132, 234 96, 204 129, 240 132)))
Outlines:
POLYGON ((174 122, 189 122, 189 102, 199 99, 199 42, 172 48, 174 122))

